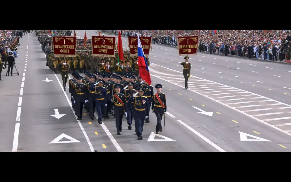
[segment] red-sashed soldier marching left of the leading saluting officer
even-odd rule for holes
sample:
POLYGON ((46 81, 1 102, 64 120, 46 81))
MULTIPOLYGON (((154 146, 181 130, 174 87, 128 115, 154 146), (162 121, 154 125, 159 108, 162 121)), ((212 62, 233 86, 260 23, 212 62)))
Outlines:
POLYGON ((127 105, 125 102, 124 94, 120 93, 121 85, 115 85, 116 94, 112 96, 114 114, 115 114, 115 125, 117 129, 117 135, 121 135, 122 130, 122 118, 123 115, 127 115, 127 105))

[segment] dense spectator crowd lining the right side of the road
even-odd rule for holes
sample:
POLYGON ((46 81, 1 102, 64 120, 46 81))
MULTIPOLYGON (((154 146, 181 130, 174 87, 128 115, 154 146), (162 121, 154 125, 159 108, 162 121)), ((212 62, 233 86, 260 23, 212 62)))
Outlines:
MULTIPOLYGON (((117 35, 118 30, 114 30, 117 35)), ((283 40, 290 41, 288 30, 122 30, 122 36, 152 37, 154 44, 177 47, 179 36, 199 36, 199 51, 256 59, 285 59, 283 40), (225 49, 227 48, 227 50, 225 49), (274 56, 273 56, 274 55, 274 56)))

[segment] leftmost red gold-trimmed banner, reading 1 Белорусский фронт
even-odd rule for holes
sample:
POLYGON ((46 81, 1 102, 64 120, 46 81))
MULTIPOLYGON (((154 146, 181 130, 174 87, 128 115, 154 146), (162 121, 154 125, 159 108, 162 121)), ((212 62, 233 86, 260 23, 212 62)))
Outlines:
POLYGON ((52 38, 55 57, 76 57, 76 37, 53 36, 52 38))

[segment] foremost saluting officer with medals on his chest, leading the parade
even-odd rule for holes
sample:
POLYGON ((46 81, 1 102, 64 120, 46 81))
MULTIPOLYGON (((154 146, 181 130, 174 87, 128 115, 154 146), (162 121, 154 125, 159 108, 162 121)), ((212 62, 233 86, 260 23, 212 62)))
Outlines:
POLYGON ((133 117, 135 133, 137 135, 137 139, 142 140, 143 124, 145 122, 145 118, 150 114, 150 103, 148 102, 148 98, 143 96, 145 90, 140 87, 138 91, 138 93, 129 98, 128 103, 134 102, 133 117), (137 94, 138 96, 136 96, 137 94))

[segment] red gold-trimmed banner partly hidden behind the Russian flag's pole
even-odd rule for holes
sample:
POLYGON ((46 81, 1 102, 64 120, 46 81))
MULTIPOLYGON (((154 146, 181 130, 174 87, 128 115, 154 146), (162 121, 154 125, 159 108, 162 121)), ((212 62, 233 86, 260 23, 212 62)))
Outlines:
MULTIPOLYGON (((141 46, 143 47, 143 53, 145 55, 150 54, 150 48, 152 47, 151 37, 139 37, 141 40, 141 46)), ((137 56, 137 37, 128 36, 129 54, 130 56, 137 56)))

